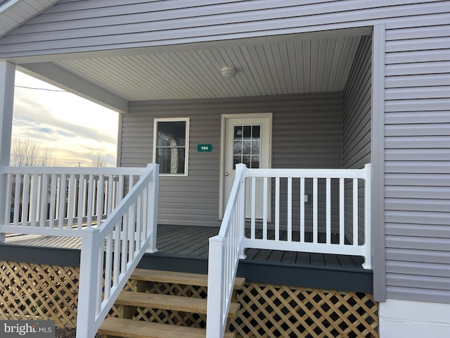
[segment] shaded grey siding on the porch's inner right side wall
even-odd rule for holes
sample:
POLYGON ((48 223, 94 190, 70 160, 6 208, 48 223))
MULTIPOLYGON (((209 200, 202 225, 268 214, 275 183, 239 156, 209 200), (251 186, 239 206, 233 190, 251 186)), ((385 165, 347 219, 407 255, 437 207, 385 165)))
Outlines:
MULTIPOLYGON (((342 165, 345 169, 360 169, 371 163, 372 115, 372 39, 361 39, 349 79, 344 89, 344 144, 342 165)), ((345 233, 352 238, 353 184, 345 182, 345 233)), ((358 228, 359 243, 364 243, 364 183, 359 182, 358 228)))

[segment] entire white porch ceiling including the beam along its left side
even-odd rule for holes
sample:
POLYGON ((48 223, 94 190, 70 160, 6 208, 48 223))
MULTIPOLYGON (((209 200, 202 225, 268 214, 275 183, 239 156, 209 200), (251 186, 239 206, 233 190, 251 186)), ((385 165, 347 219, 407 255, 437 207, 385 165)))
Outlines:
POLYGON ((342 92, 367 27, 15 58, 26 73, 115 111, 129 101, 342 92), (234 66, 236 77, 221 76, 234 66))

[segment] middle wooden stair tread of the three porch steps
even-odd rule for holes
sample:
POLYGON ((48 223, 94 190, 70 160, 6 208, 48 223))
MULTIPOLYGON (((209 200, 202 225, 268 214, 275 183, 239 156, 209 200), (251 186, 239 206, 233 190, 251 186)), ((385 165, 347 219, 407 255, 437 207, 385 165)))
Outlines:
MULTIPOLYGON (((169 294, 148 294, 144 292, 122 291, 115 304, 139 306, 141 308, 161 308, 164 310, 184 311, 189 313, 207 313, 207 300, 169 294)), ((235 318, 240 308, 239 303, 231 303, 228 317, 235 318)))

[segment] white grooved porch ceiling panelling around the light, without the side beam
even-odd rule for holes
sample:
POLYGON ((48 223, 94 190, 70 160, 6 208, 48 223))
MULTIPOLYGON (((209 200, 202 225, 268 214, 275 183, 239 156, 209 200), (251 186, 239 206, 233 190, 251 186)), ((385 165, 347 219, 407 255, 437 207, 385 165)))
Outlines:
POLYGON ((279 41, 53 62, 127 101, 344 89, 360 37, 279 41), (222 67, 234 66, 225 78, 222 67))

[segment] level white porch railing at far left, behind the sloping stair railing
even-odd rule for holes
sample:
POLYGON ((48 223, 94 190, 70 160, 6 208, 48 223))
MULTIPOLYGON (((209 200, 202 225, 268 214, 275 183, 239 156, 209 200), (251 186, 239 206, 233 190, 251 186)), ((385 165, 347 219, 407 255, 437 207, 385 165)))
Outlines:
POLYGON ((79 237, 101 225, 145 170, 4 167, 0 232, 79 237))

